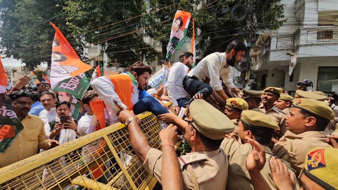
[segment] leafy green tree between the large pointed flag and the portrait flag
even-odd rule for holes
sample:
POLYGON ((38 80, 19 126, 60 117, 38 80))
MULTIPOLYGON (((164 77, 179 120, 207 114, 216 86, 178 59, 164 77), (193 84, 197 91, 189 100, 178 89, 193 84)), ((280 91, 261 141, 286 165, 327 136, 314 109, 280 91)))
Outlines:
POLYGON ((101 46, 98 56, 107 53, 111 60, 122 64, 121 67, 143 58, 146 62, 154 61, 156 50, 143 41, 143 27, 137 17, 141 15, 142 4, 142 0, 66 1, 68 31, 83 46, 101 46))

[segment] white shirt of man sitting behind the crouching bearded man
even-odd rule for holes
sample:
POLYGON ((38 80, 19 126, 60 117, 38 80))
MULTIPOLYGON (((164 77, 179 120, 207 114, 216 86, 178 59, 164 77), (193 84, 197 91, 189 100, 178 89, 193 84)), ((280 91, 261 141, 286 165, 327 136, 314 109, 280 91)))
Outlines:
POLYGON ((167 81, 168 96, 171 103, 177 106, 178 98, 190 99, 190 94, 183 88, 183 79, 188 74, 189 67, 181 62, 174 63, 171 66, 167 81))

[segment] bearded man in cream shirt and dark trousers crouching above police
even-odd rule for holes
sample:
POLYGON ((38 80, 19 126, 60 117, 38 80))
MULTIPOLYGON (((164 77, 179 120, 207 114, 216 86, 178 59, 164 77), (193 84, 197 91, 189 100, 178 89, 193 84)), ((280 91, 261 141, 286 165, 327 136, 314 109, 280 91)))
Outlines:
POLYGON ((184 89, 192 96, 188 103, 190 104, 194 100, 193 97, 206 99, 215 90, 218 96, 214 98, 221 107, 224 107, 225 101, 229 97, 225 94, 219 78, 221 77, 233 92, 238 92, 230 78, 230 66, 235 67, 243 59, 247 50, 244 43, 234 40, 224 53, 215 52, 204 57, 183 80, 184 89), (209 80, 210 85, 204 83, 209 80))

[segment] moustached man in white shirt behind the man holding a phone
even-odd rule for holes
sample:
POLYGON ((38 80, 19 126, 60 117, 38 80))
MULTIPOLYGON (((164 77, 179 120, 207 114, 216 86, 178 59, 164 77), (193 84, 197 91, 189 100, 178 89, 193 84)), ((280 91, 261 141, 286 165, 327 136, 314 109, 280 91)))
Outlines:
POLYGON ((48 124, 49 121, 55 120, 56 117, 56 98, 52 92, 43 92, 41 94, 40 101, 45 110, 40 112, 39 117, 45 124, 48 124))

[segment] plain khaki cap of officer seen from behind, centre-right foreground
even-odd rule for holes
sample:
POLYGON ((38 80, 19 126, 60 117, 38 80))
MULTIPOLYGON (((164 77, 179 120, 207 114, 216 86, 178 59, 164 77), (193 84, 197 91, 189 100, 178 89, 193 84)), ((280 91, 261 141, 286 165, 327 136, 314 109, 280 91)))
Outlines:
POLYGON ((267 127, 275 130, 279 129, 277 122, 272 117, 257 111, 244 110, 240 120, 254 128, 267 127))

